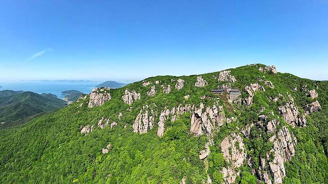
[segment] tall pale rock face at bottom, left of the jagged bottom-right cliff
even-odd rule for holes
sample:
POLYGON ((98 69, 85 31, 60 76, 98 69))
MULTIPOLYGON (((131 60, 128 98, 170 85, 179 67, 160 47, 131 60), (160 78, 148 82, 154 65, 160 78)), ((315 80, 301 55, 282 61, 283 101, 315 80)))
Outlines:
POLYGON ((224 160, 231 164, 228 168, 223 168, 223 180, 228 184, 235 183, 236 177, 240 174, 239 171, 236 172, 236 168, 241 167, 246 160, 245 146, 241 136, 231 133, 225 137, 221 142, 221 151, 224 160))

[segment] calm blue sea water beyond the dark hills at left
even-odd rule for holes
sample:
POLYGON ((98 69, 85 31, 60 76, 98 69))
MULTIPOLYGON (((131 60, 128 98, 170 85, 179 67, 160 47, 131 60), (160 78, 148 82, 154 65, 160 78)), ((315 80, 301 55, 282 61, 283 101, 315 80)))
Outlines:
POLYGON ((0 91, 13 90, 13 91, 25 91, 36 93, 52 93, 59 98, 63 98, 65 95, 60 92, 66 90, 77 90, 84 93, 89 93, 96 85, 102 82, 53 82, 53 81, 20 81, 20 82, 0 82, 0 91))

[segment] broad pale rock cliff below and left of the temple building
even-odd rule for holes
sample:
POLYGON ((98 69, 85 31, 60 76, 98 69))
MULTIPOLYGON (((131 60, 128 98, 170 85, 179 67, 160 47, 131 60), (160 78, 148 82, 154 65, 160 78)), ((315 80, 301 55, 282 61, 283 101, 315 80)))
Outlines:
POLYGON ((199 105, 199 109, 195 109, 191 114, 191 126, 190 132, 196 136, 200 136, 203 132, 206 133, 207 136, 210 136, 212 133, 212 129, 217 126, 223 126, 223 122, 225 120, 225 114, 223 112, 223 107, 213 105, 212 107, 206 107, 205 111, 203 103, 199 105))

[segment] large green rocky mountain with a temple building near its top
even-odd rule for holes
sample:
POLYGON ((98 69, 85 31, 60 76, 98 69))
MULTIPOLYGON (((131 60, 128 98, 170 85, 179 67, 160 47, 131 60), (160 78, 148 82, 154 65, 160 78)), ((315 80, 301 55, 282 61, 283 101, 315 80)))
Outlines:
POLYGON ((0 183, 327 184, 328 83, 253 64, 97 88, 0 132, 0 183))

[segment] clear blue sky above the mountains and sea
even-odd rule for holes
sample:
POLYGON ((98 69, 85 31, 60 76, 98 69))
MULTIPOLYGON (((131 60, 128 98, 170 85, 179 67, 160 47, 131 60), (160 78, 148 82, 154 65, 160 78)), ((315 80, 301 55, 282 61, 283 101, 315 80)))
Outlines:
POLYGON ((251 63, 328 80, 328 1, 0 2, 0 81, 140 80, 251 63))

